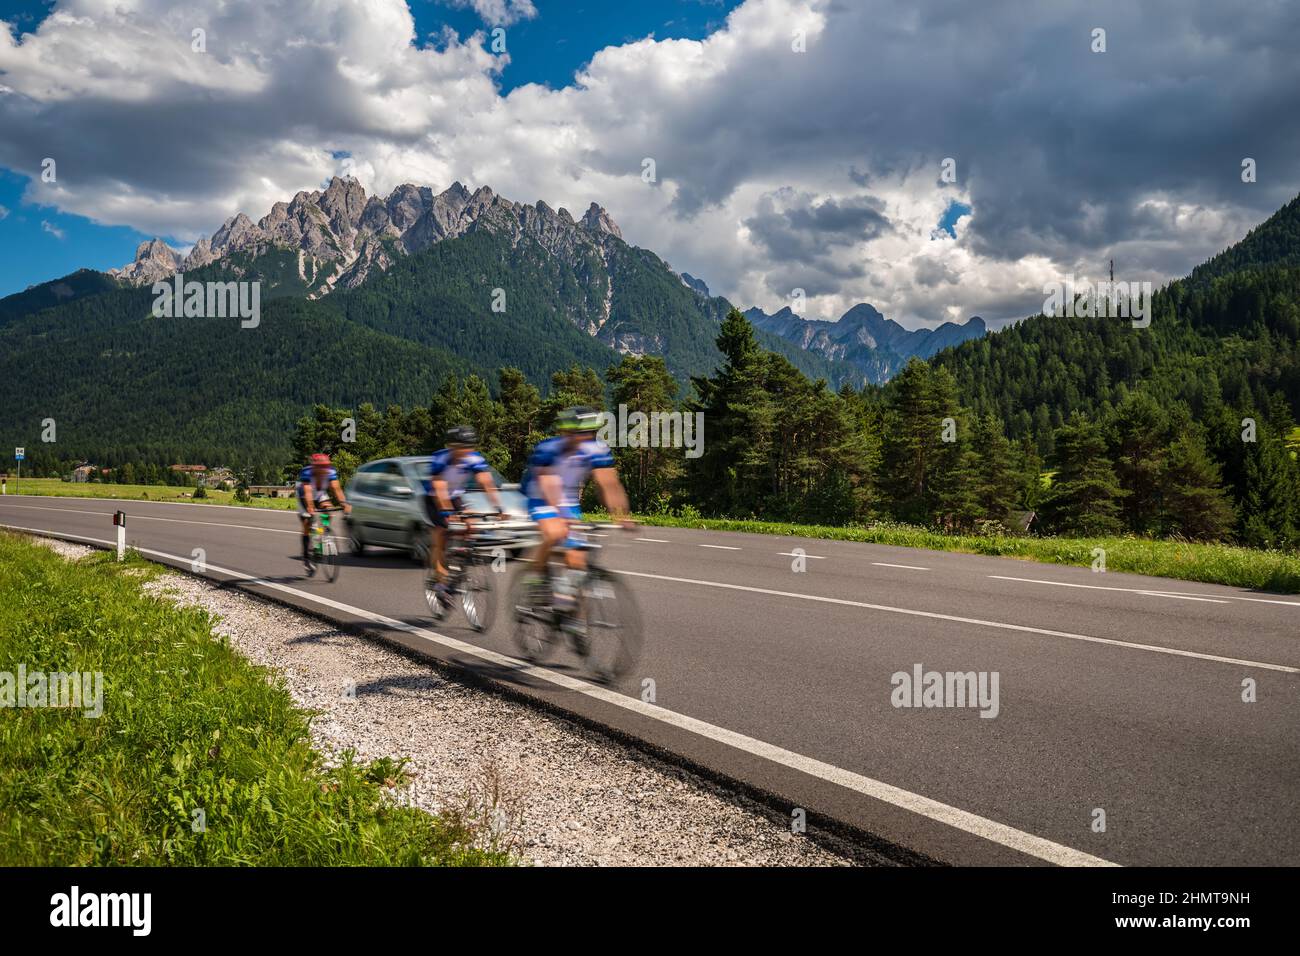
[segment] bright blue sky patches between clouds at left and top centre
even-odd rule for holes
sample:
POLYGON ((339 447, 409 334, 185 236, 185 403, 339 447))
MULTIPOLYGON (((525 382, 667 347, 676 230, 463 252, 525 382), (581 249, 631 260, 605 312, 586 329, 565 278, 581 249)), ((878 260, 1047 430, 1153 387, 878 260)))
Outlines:
MULTIPOLYGON (((538 16, 507 27, 510 64, 499 75, 502 94, 525 83, 560 88, 573 82, 594 52, 607 46, 654 35, 656 39, 699 39, 716 30, 736 0, 671 0, 668 3, 603 3, 534 0, 538 16)), ((27 33, 49 14, 52 0, 0 0, 0 20, 27 33)), ((467 39, 490 27, 468 7, 412 0, 411 13, 421 44, 450 26, 467 39)), ((485 36, 485 42, 490 36, 485 36)), ((23 203, 26 177, 0 168, 0 297, 66 276, 79 268, 125 265, 135 247, 153 238, 129 226, 96 225, 82 216, 23 203)), ((164 235, 173 245, 174 237, 164 235)))

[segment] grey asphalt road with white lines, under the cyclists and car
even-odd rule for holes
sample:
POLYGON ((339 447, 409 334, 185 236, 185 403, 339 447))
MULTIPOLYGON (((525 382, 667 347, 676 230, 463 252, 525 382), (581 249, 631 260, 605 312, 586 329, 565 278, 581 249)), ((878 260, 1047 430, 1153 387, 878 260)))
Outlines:
POLYGON ((188 570, 202 548, 211 578, 472 669, 902 858, 1300 864, 1300 596, 642 528, 602 538, 646 627, 636 672, 604 688, 568 652, 517 661, 506 614, 488 635, 459 615, 433 627, 395 551, 344 554, 334 584, 303 578, 290 512, 8 496, 0 524, 108 544, 120 507, 146 557, 188 570), (893 675, 918 665, 996 675, 996 708, 894 706, 893 675))

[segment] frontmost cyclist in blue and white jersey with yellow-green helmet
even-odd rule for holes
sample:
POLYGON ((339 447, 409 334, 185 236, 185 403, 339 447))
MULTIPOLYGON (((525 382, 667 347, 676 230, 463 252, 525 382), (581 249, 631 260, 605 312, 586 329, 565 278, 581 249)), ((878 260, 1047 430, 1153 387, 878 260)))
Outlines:
MULTIPOLYGON (((537 522, 541 542, 533 555, 530 585, 546 580, 546 563, 551 550, 569 537, 569 527, 582 520, 578 501, 588 477, 595 479, 601 501, 610 514, 630 531, 636 523, 628 516, 628 496, 614 470, 610 446, 595 437, 603 415, 590 406, 566 408, 555 421, 552 438, 537 444, 528 459, 521 486, 528 496, 528 515, 537 522)), ((568 567, 581 574, 586 554, 571 548, 566 554, 568 567)), ((567 594, 558 596, 560 600, 567 594)))

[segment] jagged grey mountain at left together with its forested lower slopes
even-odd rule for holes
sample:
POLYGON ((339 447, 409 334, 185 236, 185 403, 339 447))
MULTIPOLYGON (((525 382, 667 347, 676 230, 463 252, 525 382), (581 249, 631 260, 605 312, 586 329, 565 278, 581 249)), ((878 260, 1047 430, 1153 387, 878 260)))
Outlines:
MULTIPOLYGON (((153 239, 121 269, 0 299, 0 407, 20 445, 55 419, 68 457, 233 460, 281 453, 316 402, 426 405, 452 373, 495 386, 514 365, 545 392, 575 363, 653 354, 685 390, 719 364, 731 308, 624 242, 599 206, 575 219, 486 187, 377 198, 335 178, 183 255, 153 239), (260 282, 260 323, 153 316, 153 282, 178 272, 260 282)), ((809 377, 862 384, 848 363, 758 336, 809 377)))

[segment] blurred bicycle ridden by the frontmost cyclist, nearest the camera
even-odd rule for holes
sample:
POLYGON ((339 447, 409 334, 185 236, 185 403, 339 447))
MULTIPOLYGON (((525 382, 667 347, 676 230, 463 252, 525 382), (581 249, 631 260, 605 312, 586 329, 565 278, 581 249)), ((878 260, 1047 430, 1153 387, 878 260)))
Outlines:
POLYGON ((510 588, 515 617, 515 645, 530 663, 545 662, 567 635, 573 652, 601 682, 611 683, 628 674, 641 658, 641 614, 624 580, 602 567, 601 545, 581 537, 584 532, 619 528, 618 524, 573 525, 569 540, 552 554, 569 548, 588 553, 586 571, 546 567, 547 579, 529 584, 532 568, 523 564, 510 588), (559 575, 564 575, 562 579, 559 575))

